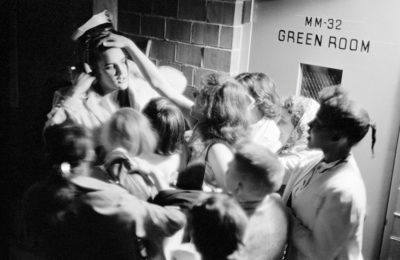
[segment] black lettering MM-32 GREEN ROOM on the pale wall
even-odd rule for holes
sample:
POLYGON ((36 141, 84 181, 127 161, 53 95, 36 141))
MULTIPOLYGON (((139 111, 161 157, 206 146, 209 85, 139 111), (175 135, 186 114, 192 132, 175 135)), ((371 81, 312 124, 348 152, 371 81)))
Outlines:
MULTIPOLYGON (((340 32, 343 25, 343 20, 336 18, 324 19, 306 16, 304 19, 304 27, 306 28, 340 32)), ((360 53, 369 53, 371 49, 369 40, 286 29, 278 31, 278 41, 360 53)))

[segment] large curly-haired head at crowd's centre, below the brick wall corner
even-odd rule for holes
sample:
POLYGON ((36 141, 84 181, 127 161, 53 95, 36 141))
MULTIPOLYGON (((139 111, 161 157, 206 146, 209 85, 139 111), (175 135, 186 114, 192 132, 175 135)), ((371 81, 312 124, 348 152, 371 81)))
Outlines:
POLYGON ((205 139, 220 138, 234 143, 248 127, 246 89, 231 77, 211 73, 203 79, 198 99, 202 100, 205 139))

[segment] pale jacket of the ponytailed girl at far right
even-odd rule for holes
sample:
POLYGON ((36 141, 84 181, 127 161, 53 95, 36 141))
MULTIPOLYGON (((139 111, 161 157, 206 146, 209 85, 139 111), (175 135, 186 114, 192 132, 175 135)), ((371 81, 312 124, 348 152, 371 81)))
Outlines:
POLYGON ((288 259, 363 259, 366 192, 357 163, 352 155, 339 164, 321 160, 302 161, 283 194, 293 210, 288 259))

